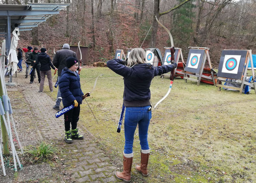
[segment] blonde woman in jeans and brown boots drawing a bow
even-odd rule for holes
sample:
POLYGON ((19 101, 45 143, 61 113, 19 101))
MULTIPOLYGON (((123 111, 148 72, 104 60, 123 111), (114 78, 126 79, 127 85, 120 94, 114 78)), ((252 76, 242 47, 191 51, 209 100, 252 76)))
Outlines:
POLYGON ((125 149, 123 152, 123 172, 116 172, 116 177, 125 182, 131 181, 131 165, 133 161, 133 137, 139 127, 141 146, 141 163, 136 170, 142 176, 149 176, 149 143, 147 140, 151 119, 150 85, 156 75, 170 72, 177 67, 176 63, 153 67, 146 62, 146 53, 142 48, 131 50, 128 60, 113 59, 107 61, 107 67, 124 77, 125 90, 123 103, 125 110, 125 149))

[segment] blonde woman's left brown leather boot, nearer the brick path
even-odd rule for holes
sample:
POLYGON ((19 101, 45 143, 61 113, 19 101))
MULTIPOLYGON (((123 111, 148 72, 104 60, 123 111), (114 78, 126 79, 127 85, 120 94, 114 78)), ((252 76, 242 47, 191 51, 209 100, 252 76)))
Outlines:
POLYGON ((124 182, 131 182, 131 165, 133 157, 125 157, 124 155, 124 170, 123 172, 116 172, 116 177, 124 182))

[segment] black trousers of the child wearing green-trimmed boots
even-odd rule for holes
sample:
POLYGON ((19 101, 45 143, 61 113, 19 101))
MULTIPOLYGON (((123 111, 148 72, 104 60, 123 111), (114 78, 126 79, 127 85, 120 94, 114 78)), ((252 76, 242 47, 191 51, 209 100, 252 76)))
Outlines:
MULTIPOLYGON (((67 106, 66 106, 67 107, 67 106)), ((70 123, 72 129, 77 129, 77 121, 79 120, 80 104, 64 114, 65 131, 70 130, 70 123)))

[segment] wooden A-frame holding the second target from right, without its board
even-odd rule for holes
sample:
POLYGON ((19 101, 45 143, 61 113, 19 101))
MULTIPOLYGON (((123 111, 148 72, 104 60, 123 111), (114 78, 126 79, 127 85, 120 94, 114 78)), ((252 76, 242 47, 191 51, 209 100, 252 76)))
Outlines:
MULTIPOLYGON (((200 67, 199 73, 191 73, 191 72, 188 72, 188 71, 184 71, 184 72, 185 72, 185 75, 184 75, 184 78, 183 78, 183 79, 184 79, 185 81, 187 81, 187 80, 195 81, 195 82, 197 82, 197 86, 199 86, 199 85, 200 85, 200 82, 201 82, 201 79, 203 78, 204 80, 213 82, 213 84, 216 85, 215 79, 214 79, 214 73, 213 73, 213 70, 212 70, 212 63, 211 63, 210 55, 209 55, 209 50, 210 50, 210 49, 209 49, 208 47, 188 47, 188 48, 190 48, 190 49, 198 49, 198 50, 205 50, 205 51, 204 51, 204 54, 203 54, 203 61, 202 61, 202 63, 201 63, 201 66, 199 66, 199 67, 200 67), (208 59, 208 63, 209 63, 209 67, 210 67, 211 76, 203 75, 203 68, 204 68, 206 59, 208 59), (197 79, 188 78, 188 75, 189 75, 189 76, 196 76, 197 79)), ((188 64, 188 63, 187 63, 187 64, 188 64)))

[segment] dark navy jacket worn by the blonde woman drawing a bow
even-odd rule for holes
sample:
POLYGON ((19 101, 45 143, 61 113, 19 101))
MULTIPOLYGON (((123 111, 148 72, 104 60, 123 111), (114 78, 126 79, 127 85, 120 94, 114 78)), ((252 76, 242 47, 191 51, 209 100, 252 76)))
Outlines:
POLYGON ((112 59, 107 61, 107 67, 124 77, 124 103, 126 107, 150 105, 150 84, 156 75, 170 72, 177 64, 153 67, 151 64, 137 64, 131 68, 126 67, 124 60, 112 59), (130 103, 130 104, 128 104, 130 103), (131 104, 132 103, 132 104, 131 104), (134 106, 131 106, 134 105, 134 106))

